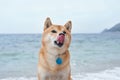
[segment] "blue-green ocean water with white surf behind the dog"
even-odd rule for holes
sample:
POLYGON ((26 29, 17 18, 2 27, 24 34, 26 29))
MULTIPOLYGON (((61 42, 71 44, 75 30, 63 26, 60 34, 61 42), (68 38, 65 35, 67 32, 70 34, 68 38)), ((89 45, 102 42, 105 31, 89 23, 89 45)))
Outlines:
MULTIPOLYGON (((41 34, 0 34, 0 80, 37 80, 41 34)), ((73 80, 120 80, 120 33, 73 34, 73 80)))

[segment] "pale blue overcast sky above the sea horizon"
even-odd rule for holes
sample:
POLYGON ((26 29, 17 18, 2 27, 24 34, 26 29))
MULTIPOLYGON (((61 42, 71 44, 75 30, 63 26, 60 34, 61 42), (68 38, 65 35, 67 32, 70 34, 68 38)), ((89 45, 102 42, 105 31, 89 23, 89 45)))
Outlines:
POLYGON ((100 33, 120 22, 120 0, 0 0, 0 33, 42 33, 44 21, 72 21, 72 33, 100 33))

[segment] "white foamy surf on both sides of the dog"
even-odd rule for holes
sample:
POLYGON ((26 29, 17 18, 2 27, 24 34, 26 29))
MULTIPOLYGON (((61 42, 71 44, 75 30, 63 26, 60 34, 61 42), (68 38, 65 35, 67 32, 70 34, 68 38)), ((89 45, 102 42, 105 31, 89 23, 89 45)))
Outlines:
MULTIPOLYGON (((77 74, 73 80, 120 80, 120 68, 109 69, 98 73, 77 74)), ((0 80, 37 80, 36 77, 9 77, 0 80)))

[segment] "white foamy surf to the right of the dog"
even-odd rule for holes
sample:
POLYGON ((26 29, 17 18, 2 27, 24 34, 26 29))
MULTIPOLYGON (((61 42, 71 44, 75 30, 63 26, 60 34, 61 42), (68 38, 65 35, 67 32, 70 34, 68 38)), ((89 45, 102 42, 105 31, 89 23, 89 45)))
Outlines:
POLYGON ((86 73, 73 76, 73 80, 120 80, 120 68, 109 69, 98 73, 86 73))

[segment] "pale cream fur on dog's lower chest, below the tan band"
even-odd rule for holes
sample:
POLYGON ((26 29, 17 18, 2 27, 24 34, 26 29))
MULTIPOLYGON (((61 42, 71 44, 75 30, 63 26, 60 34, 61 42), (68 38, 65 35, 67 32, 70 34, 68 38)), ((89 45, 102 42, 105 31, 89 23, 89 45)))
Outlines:
POLYGON ((51 73, 50 71, 39 67, 38 73, 41 77, 41 80, 46 80, 47 78, 49 78, 49 80, 67 80, 70 73, 70 67, 68 66, 65 69, 60 70, 56 73, 51 73))

